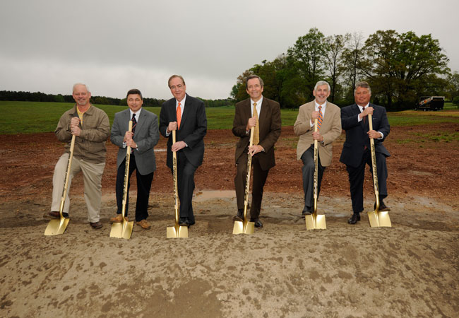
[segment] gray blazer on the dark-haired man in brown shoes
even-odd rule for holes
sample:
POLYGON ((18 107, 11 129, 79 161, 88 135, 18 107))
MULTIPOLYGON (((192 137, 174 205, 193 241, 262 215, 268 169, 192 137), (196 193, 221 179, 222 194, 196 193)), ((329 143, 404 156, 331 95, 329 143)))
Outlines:
MULTIPOLYGON (((117 167, 123 163, 126 158, 126 148, 123 148, 124 134, 129 129, 129 121, 131 120, 131 112, 129 108, 115 114, 112 134, 110 141, 119 146, 117 167)), ((136 160, 138 172, 141 175, 148 175, 156 170, 155 151, 154 147, 160 139, 160 132, 157 127, 157 116, 153 112, 149 112, 142 107, 141 115, 137 119, 136 131, 133 140, 137 144, 137 149, 134 149, 133 158, 136 160)))

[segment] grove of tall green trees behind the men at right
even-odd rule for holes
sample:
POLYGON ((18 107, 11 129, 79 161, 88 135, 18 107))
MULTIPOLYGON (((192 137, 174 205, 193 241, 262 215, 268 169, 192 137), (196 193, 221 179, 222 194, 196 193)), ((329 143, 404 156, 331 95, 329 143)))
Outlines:
POLYGON ((459 74, 451 73, 439 40, 414 32, 378 30, 365 40, 362 33, 326 37, 317 28, 278 55, 244 71, 230 93, 235 102, 248 98, 244 78, 255 73, 264 81, 263 95, 281 107, 296 108, 314 99, 317 81, 330 84, 328 100, 354 102, 358 81, 371 86, 374 103, 388 110, 413 108, 422 95, 459 98, 459 74))

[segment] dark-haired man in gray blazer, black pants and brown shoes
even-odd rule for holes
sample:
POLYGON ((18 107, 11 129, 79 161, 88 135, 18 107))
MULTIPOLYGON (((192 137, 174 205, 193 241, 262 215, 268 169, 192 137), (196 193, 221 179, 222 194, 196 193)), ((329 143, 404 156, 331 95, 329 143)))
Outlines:
MULTIPOLYGON (((148 217, 148 197, 150 196, 153 174, 156 170, 154 147, 160 139, 157 129, 157 116, 142 108, 142 93, 138 89, 127 93, 129 109, 115 114, 110 140, 119 146, 117 157, 117 216, 110 220, 115 223, 122 221, 121 211, 123 204, 124 172, 126 170, 126 147, 132 148, 131 162, 129 163, 129 178, 136 170, 137 203, 136 223, 141 228, 150 228, 148 217), (133 121, 132 131, 129 132, 129 121, 133 121)), ((130 183, 128 183, 128 191, 130 183)), ((128 213, 129 196, 126 200, 126 214, 128 213)))

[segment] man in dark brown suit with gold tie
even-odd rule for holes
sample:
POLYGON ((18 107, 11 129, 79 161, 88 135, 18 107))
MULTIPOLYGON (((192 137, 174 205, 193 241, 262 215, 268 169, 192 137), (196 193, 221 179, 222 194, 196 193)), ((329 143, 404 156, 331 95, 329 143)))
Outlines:
POLYGON ((244 193, 247 175, 247 155, 252 156, 254 165, 254 185, 250 221, 256 228, 262 228, 260 210, 263 199, 263 187, 270 168, 275 166, 274 144, 280 136, 280 105, 274 100, 264 98, 263 80, 256 75, 246 78, 246 90, 250 98, 236 104, 232 132, 240 137, 236 146, 237 173, 234 178, 237 198, 237 216, 233 220, 244 218, 244 193), (254 146, 249 147, 250 129, 254 127, 254 146), (258 131, 258 133, 257 133, 258 131), (258 136, 257 136, 258 135, 258 136))

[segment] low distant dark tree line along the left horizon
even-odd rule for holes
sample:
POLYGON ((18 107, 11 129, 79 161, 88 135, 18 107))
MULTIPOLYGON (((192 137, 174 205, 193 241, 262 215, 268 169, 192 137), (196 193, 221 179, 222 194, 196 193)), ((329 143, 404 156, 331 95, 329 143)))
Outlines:
MULTIPOLYGON (((229 98, 218 100, 205 100, 199 98, 205 107, 220 107, 232 105, 233 101, 229 98)), ((0 100, 24 101, 24 102, 75 102, 72 95, 45 94, 41 92, 16 92, 11 90, 0 90, 0 100)), ((166 100, 157 98, 143 98, 143 106, 161 107, 166 100)), ((110 98, 105 96, 91 96, 90 102, 95 105, 120 105, 127 106, 126 98, 110 98)))

